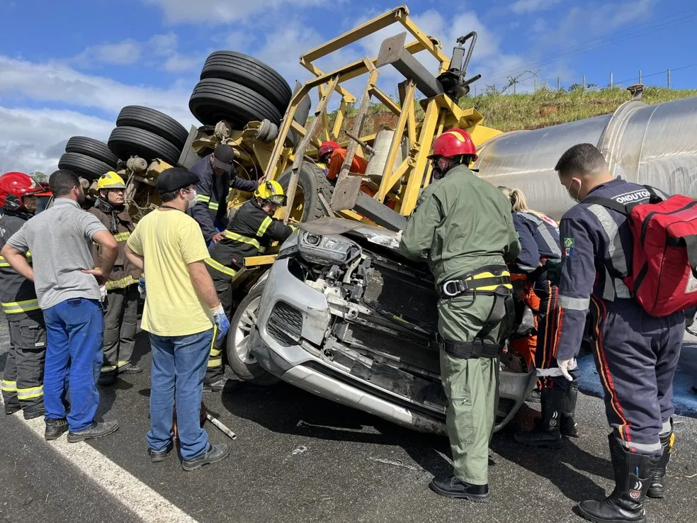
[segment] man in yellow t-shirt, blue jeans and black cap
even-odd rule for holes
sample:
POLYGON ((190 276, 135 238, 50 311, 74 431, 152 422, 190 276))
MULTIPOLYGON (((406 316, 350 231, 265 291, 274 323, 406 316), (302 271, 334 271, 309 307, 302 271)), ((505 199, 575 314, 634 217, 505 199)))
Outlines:
POLYGON ((142 329, 152 348, 148 453, 163 461, 173 448, 172 411, 185 471, 225 459, 227 445, 211 445, 200 427, 203 376, 210 347, 229 329, 204 260, 200 227, 186 210, 196 204, 198 176, 186 169, 163 171, 157 179, 162 206, 140 220, 126 256, 145 271, 142 329), (175 379, 176 378, 176 379, 175 379))

